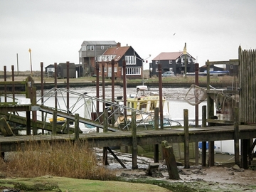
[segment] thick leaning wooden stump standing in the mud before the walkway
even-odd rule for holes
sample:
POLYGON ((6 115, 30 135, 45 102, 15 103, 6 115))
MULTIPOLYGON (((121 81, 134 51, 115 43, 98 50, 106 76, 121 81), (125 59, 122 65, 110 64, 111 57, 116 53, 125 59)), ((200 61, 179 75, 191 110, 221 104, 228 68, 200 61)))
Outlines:
POLYGON ((178 168, 174 156, 174 149, 169 146, 167 141, 161 142, 162 151, 164 154, 164 159, 166 160, 166 166, 168 169, 169 178, 180 179, 178 175, 178 168))

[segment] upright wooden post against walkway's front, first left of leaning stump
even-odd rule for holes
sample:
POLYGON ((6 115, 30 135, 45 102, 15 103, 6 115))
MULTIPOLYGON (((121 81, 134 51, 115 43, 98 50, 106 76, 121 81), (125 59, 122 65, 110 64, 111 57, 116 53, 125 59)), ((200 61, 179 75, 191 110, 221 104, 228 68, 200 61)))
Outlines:
POLYGON ((138 169, 137 150, 136 112, 132 111, 132 169, 138 169))

